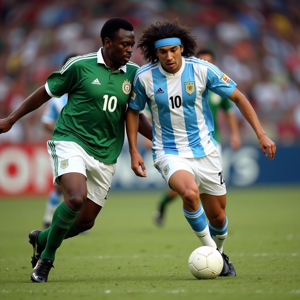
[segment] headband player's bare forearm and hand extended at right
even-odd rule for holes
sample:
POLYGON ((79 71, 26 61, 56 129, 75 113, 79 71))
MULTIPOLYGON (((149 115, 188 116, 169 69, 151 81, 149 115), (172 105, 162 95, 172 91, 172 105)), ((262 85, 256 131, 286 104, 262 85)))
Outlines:
POLYGON ((246 99, 246 97, 237 88, 235 88, 228 98, 235 103, 244 118, 249 122, 249 124, 255 131, 258 138, 259 148, 262 150, 265 156, 268 156, 269 153, 269 160, 271 161, 272 159, 274 159, 274 155, 276 152, 275 143, 271 141, 265 134, 265 131, 262 129, 256 113, 253 110, 253 107, 246 99))

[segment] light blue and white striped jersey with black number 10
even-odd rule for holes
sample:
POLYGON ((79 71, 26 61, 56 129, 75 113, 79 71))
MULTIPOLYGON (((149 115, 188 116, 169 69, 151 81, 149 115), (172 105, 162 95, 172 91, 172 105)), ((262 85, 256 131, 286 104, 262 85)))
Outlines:
POLYGON ((160 61, 137 70, 129 107, 152 115, 153 159, 173 154, 203 157, 216 149, 214 122, 208 106, 208 90, 227 98, 236 83, 215 65, 182 56, 182 67, 167 73, 160 61))

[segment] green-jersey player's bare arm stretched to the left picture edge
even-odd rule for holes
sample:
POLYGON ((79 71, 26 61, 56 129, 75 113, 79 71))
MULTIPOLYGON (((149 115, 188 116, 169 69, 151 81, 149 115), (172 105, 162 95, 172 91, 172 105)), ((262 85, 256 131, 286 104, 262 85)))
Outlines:
POLYGON ((50 98, 51 96, 47 94, 44 85, 38 88, 6 119, 0 120, 0 134, 9 131, 13 124, 15 124, 20 118, 36 110, 50 98))

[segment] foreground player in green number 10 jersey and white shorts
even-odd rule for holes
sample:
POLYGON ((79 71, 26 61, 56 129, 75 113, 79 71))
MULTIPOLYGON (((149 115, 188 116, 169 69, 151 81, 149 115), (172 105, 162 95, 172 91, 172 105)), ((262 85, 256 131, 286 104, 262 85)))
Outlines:
MULTIPOLYGON (((29 234, 34 253, 33 282, 46 282, 55 252, 63 239, 90 229, 103 207, 125 133, 125 110, 138 65, 130 62, 134 46, 133 26, 122 18, 109 19, 101 30, 98 52, 70 58, 61 70, 50 74, 6 119, 0 133, 52 97, 68 93, 53 137, 47 147, 53 184, 60 186, 64 202, 54 212, 51 226, 29 234)), ((143 114, 144 136, 152 139, 152 126, 143 114)))

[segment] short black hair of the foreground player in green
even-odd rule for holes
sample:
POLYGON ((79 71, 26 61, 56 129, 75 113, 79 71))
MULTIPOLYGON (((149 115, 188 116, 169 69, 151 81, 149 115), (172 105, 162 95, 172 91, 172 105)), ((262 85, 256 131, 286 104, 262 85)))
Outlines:
POLYGON ((116 33, 121 28, 124 30, 133 31, 133 25, 131 24, 131 22, 129 22, 126 19, 116 17, 107 20, 104 23, 100 33, 103 46, 104 46, 104 39, 109 38, 110 40, 113 40, 116 33))

